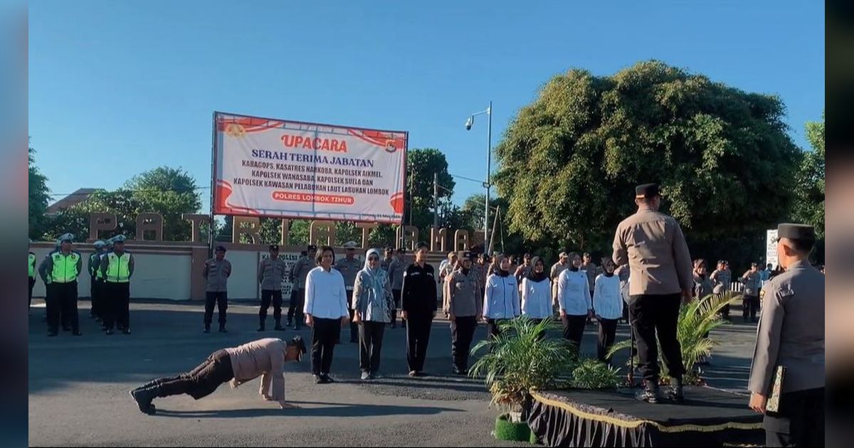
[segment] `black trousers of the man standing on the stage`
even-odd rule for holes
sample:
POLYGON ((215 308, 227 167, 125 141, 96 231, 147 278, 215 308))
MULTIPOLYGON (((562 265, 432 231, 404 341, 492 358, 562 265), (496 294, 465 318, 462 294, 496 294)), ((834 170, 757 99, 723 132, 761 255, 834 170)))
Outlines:
POLYGON ((658 344, 661 345, 661 357, 670 376, 681 379, 685 373, 682 365, 682 352, 676 339, 676 324, 679 320, 681 294, 641 294, 629 299, 629 315, 638 344, 640 371, 644 380, 658 383, 658 344))

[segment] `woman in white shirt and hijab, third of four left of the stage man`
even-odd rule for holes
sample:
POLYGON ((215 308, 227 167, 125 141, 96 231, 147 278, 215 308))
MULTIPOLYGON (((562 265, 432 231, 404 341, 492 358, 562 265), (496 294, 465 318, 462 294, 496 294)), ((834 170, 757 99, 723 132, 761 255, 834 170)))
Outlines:
POLYGON ((558 277, 560 319, 564 321, 564 339, 570 340, 581 351, 584 325, 593 315, 587 273, 581 271, 582 258, 570 253, 569 269, 558 277))

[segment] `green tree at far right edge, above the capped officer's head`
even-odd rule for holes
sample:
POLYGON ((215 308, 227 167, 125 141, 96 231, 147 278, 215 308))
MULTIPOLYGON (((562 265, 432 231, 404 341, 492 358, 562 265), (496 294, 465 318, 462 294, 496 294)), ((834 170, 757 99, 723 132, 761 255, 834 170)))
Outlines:
POLYGON ((810 151, 804 152, 798 168, 795 201, 792 207, 793 220, 812 224, 816 236, 824 238, 824 117, 822 121, 806 124, 806 138, 810 151))

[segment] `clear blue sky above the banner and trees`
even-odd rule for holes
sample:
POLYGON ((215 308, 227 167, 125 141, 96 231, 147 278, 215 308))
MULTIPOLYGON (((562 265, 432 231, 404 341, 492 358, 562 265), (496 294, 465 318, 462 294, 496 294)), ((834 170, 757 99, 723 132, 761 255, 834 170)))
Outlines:
MULTIPOLYGON (((29 134, 56 195, 161 165, 209 185, 214 110, 409 131, 483 178, 469 113, 494 102, 495 144, 571 67, 654 58, 779 95, 803 148, 824 108, 822 2, 43 0, 29 20, 29 134)), ((454 201, 482 192, 458 178, 454 201)))

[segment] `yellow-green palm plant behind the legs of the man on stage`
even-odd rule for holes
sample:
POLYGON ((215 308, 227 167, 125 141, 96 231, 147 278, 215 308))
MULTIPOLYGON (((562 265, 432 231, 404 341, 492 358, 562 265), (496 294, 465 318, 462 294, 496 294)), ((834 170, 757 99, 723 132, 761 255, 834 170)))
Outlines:
MULTIPOLYGON (((723 307, 734 299, 730 293, 722 296, 707 295, 699 300, 692 300, 685 305, 681 305, 679 310, 679 321, 676 326, 676 338, 679 340, 682 352, 682 364, 685 365, 684 381, 687 384, 703 384, 701 378, 702 372, 696 368, 699 360, 709 358, 711 351, 717 346, 717 340, 709 338, 709 333, 713 329, 717 329, 726 321, 720 317, 720 312, 723 307)), ((608 352, 608 358, 611 358, 616 352, 625 350, 631 346, 631 340, 622 340, 611 346, 611 351, 608 352)), ((659 357, 662 353, 660 347, 658 350, 659 357)), ((628 362, 626 363, 629 364, 628 362)), ((667 384, 670 377, 667 372, 667 366, 659 358, 658 364, 661 368, 661 382, 667 384)), ((638 365, 638 358, 635 355, 635 365, 638 365)))

